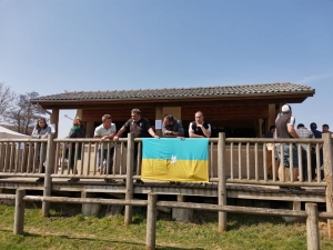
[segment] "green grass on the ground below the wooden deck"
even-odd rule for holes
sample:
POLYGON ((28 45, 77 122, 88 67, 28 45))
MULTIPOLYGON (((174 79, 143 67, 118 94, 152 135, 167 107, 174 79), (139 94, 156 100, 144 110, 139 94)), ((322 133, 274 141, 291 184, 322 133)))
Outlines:
MULTIPOLYGON (((13 236, 14 208, 0 204, 0 249, 145 249, 145 211, 134 209, 133 223, 123 216, 83 218, 79 204, 51 204, 51 217, 28 204, 24 234, 13 236), (31 207, 31 208, 29 208, 31 207)), ((216 212, 194 211, 192 223, 171 220, 160 213, 157 249, 306 249, 304 221, 286 223, 278 217, 228 214, 229 230, 220 234, 216 212)), ((321 249, 333 249, 321 222, 321 249)))

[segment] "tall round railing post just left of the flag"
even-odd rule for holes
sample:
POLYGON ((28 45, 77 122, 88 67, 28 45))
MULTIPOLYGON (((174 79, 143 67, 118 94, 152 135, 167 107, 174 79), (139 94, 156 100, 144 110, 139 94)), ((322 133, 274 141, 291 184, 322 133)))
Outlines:
MULTIPOLYGON (((128 134, 128 154, 127 154, 127 190, 125 199, 133 198, 133 163, 134 163, 134 133, 128 134)), ((125 206, 124 224, 132 222, 132 206, 125 206)))

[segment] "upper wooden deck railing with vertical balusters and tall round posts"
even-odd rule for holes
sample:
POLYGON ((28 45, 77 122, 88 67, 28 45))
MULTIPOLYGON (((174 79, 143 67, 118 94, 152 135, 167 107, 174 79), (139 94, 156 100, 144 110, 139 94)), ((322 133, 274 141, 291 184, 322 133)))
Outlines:
MULTIPOLYGON (((140 179, 141 166, 137 161, 138 171, 133 174, 134 143, 138 143, 139 156, 141 158, 141 139, 134 139, 132 133, 127 139, 120 139, 114 147, 113 163, 110 166, 109 152, 111 144, 108 144, 108 158, 105 168, 112 168, 113 172, 98 173, 98 148, 103 149, 103 144, 98 139, 53 139, 50 134, 48 139, 0 139, 0 177, 44 177, 43 196, 51 196, 52 178, 78 178, 78 179, 125 179, 125 199, 133 198, 133 179, 140 179), (73 170, 70 166, 64 166, 65 143, 69 144, 68 162, 73 162, 73 170), (74 152, 72 153, 75 144, 74 152), (20 146, 23 144, 22 148, 20 146), (79 156, 79 146, 82 151, 79 156), (73 161, 72 161, 72 158, 73 161), (46 161, 44 161, 46 159, 46 161), (43 164, 46 167, 43 172, 43 164), (26 168, 27 167, 27 168, 26 168)), ((275 151, 272 151, 275 158, 275 151)), ((291 162, 293 154, 291 153, 291 162)), ((226 206, 226 183, 245 183, 253 186, 294 186, 294 187, 324 187, 326 189, 326 210, 333 212, 333 162, 332 162, 332 139, 330 134, 323 134, 322 139, 261 139, 261 138, 225 138, 220 133, 219 138, 210 139, 210 163, 209 178, 211 182, 218 182, 219 206, 226 206), (272 178, 269 178, 269 166, 266 163, 266 146, 273 143, 273 148, 284 144, 292 148, 297 147, 300 176, 293 173, 294 166, 290 168, 281 164, 283 172, 289 172, 289 178, 278 180, 275 161, 272 162, 272 178), (315 158, 316 172, 321 172, 324 167, 325 178, 319 174, 313 181, 311 166, 303 162, 302 144, 306 146, 306 160, 315 158), (315 148, 315 153, 311 148, 315 148), (323 148, 323 166, 321 164, 321 148, 323 148), (303 179, 303 170, 307 169, 307 179, 303 179)), ((42 202, 43 216, 49 216, 50 202, 46 199, 42 202)), ((125 206, 124 223, 132 221, 132 206, 125 206)), ((219 210, 219 231, 226 230, 226 212, 219 210)), ((329 220, 329 234, 333 239, 333 221, 329 220)))

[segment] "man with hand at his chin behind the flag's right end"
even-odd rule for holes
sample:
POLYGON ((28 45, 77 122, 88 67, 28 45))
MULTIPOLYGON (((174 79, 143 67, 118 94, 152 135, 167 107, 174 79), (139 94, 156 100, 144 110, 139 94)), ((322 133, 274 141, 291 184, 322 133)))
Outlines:
POLYGON ((195 121, 192 121, 189 127, 190 138, 210 138, 211 137, 211 124, 203 121, 203 113, 198 111, 195 113, 195 121))

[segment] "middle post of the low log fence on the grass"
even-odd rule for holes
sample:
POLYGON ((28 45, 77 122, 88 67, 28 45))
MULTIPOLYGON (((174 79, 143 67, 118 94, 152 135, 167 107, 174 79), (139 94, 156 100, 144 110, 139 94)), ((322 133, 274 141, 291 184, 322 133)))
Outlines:
POLYGON ((148 207, 147 207, 147 239, 145 249, 155 249, 155 237, 157 237, 157 201, 158 194, 148 194, 148 207))

